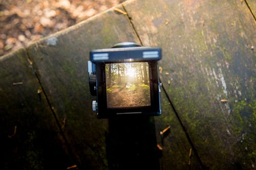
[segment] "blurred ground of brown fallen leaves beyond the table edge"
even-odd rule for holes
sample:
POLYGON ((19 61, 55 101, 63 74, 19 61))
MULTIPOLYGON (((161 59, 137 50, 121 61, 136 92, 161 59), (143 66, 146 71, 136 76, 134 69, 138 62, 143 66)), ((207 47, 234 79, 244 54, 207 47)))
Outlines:
POLYGON ((0 56, 125 0, 0 0, 0 56))

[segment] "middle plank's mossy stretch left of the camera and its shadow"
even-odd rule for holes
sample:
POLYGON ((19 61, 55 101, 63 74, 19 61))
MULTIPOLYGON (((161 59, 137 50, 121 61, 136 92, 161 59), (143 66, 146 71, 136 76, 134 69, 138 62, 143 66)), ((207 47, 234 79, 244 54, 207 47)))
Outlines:
MULTIPOLYGON (((123 10, 122 6, 116 8, 123 10)), ((91 96, 88 84, 89 52, 127 41, 139 42, 127 16, 112 8, 27 49, 82 168, 106 169, 112 166, 106 155, 108 120, 97 119, 91 109, 92 100, 96 98, 91 96)))

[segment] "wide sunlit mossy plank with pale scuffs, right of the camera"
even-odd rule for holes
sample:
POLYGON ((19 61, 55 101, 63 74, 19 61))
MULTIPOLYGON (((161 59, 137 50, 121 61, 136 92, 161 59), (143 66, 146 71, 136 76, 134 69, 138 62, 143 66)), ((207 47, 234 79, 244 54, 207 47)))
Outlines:
POLYGON ((204 165, 253 169, 256 27, 247 6, 150 0, 124 8, 143 45, 162 47, 163 84, 204 165))

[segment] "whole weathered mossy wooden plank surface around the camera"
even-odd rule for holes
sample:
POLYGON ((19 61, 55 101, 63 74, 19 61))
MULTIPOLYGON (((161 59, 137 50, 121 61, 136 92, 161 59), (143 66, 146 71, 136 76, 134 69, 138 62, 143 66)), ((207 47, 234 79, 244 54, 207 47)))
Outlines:
POLYGON ((21 124, 16 135, 26 137, 16 136, 24 140, 16 144, 29 148, 20 155, 6 149, 4 168, 34 161, 23 167, 47 169, 49 153, 59 152, 56 169, 188 169, 195 147, 199 158, 192 152, 191 169, 255 169, 255 1, 246 2, 127 1, 117 8, 128 16, 110 9, 32 44, 27 53, 1 58, 1 137, 12 147, 7 133, 21 124), (160 116, 96 118, 89 52, 124 41, 162 47, 161 80, 184 127, 163 92, 160 116), (48 145, 52 151, 41 152, 48 145))

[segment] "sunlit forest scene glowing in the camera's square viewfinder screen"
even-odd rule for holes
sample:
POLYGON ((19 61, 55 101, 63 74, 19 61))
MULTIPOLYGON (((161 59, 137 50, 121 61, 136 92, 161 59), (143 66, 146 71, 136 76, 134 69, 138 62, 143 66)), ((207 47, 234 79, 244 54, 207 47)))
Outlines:
POLYGON ((147 62, 105 65, 108 108, 150 106, 147 62))

